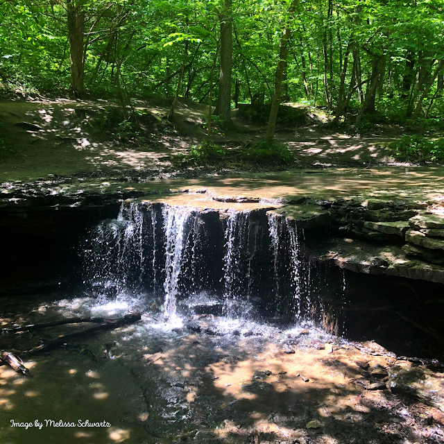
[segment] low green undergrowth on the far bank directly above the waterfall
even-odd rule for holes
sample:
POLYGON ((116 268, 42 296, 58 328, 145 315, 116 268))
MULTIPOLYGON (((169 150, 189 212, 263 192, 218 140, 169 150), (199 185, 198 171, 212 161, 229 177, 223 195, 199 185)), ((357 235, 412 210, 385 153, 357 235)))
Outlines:
POLYGON ((248 142, 236 148, 202 142, 194 145, 186 155, 172 157, 178 167, 208 166, 288 166, 294 162, 293 153, 279 142, 248 142))

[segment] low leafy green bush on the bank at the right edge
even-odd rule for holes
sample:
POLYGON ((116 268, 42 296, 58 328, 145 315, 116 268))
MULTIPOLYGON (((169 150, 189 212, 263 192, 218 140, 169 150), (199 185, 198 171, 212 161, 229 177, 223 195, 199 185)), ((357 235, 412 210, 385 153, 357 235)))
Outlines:
POLYGON ((402 162, 444 162, 444 139, 404 135, 388 146, 402 162))

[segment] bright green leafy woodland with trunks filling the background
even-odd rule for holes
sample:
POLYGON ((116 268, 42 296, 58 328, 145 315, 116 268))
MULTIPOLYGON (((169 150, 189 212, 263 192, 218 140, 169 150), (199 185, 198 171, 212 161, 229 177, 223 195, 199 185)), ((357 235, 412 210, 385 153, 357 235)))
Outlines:
POLYGON ((0 0, 0 83, 438 119, 443 37, 443 0, 0 0))

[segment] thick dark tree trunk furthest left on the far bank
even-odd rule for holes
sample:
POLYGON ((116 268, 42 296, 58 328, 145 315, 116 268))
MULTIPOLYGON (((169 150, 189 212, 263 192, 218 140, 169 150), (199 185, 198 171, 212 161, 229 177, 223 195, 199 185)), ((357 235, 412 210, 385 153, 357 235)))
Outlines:
POLYGON ((83 33, 85 12, 74 0, 67 0, 67 22, 69 37, 69 61, 71 63, 71 92, 80 97, 83 94, 85 58, 83 57, 83 33))

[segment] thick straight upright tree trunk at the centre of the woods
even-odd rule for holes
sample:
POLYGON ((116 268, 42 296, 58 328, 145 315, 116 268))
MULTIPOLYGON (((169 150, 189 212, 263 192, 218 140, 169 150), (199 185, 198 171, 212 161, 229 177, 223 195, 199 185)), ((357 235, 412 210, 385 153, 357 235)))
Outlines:
POLYGON ((214 114, 221 117, 221 127, 229 128, 231 121, 231 65, 232 65, 232 0, 225 0, 221 22, 221 69, 219 96, 214 114))

